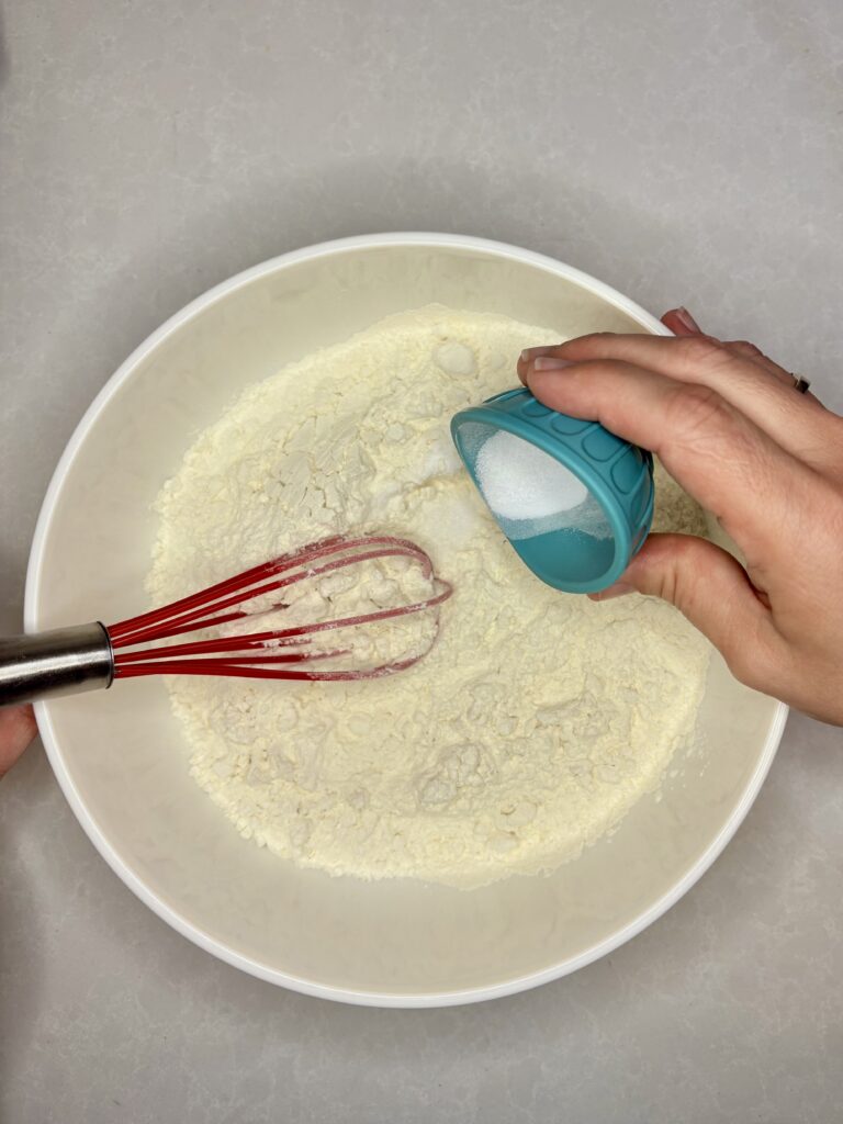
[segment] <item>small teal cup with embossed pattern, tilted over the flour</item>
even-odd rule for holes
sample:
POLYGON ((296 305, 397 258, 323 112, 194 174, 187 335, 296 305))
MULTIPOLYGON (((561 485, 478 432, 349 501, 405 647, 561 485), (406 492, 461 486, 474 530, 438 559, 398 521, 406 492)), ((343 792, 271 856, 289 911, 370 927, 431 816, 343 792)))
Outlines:
MULTIPOLYGON (((549 586, 570 593, 606 589, 641 550, 653 522, 655 497, 653 457, 646 450, 597 422, 558 414, 520 388, 460 410, 451 419, 451 435, 501 531, 522 561, 549 586), (575 478, 575 506, 538 517, 520 517, 510 505, 506 511, 501 513, 500 505, 496 510, 495 498, 488 495, 486 464, 489 451, 497 446, 486 453, 483 447, 501 432, 527 442, 568 470, 575 478)), ((511 451, 511 443, 508 447, 511 451)), ((528 506, 525 499, 525 509, 528 506)))

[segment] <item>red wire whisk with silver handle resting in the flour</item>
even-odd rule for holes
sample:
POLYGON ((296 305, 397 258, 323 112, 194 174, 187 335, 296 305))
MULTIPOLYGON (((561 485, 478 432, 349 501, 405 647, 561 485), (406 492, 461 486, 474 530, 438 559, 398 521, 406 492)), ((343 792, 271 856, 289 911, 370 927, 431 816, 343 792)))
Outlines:
POLYGON ((451 586, 435 578, 428 555, 405 538, 389 535, 325 538, 116 625, 94 622, 34 636, 0 640, 0 706, 48 695, 110 687, 115 679, 137 676, 241 676, 328 682, 378 679, 418 663, 435 642, 436 632, 420 652, 369 668, 326 670, 312 664, 325 660, 353 659, 354 646, 353 643, 344 646, 341 642, 336 649, 316 650, 311 646, 316 634, 436 610, 451 593, 451 586), (317 579, 347 566, 390 558, 415 562, 423 577, 432 583, 432 595, 411 604, 312 624, 149 646, 184 633, 282 611, 288 608, 283 590, 306 579, 317 579), (273 598, 264 604, 268 595, 275 593, 280 595, 278 600, 273 598), (260 604, 250 608, 248 602, 254 601, 260 604))

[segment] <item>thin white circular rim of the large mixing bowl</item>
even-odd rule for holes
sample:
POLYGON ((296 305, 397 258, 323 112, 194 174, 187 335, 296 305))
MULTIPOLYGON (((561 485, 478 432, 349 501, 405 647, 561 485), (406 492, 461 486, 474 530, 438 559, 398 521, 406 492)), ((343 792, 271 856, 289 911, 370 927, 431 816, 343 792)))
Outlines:
MULTIPOLYGON (((103 384, 91 405, 82 415, 73 434, 67 442, 53 477, 49 481, 38 520, 35 527, 33 545, 29 553, 29 562, 26 573, 26 593, 24 599, 24 625, 27 632, 35 632, 38 628, 39 615, 39 588, 42 571, 44 565, 44 550, 47 534, 55 514, 56 504, 64 483, 64 479, 82 447, 88 432, 102 413, 105 407, 119 390, 123 383, 129 379, 138 364, 146 359, 164 339, 179 330, 193 317, 209 308, 217 301, 228 297, 230 293, 263 278, 270 273, 287 269, 301 262, 318 257, 330 257, 338 254, 353 252, 356 250, 373 250, 381 246, 429 246, 441 250, 475 250, 498 259, 506 259, 520 264, 533 265, 544 272, 555 274, 568 281, 573 281, 583 289, 601 297, 607 303, 626 312, 634 320, 647 328, 655 335, 671 335, 672 333, 652 314, 635 301, 618 292, 604 281, 560 262, 544 254, 534 251, 523 250, 518 246, 504 242, 496 242, 488 238, 478 238, 468 235, 437 234, 426 232, 396 232, 389 234, 355 235, 348 238, 336 238, 328 242, 317 243, 300 250, 290 251, 275 257, 270 257, 257 265, 243 270, 234 277, 219 284, 214 285, 207 292, 191 300, 182 309, 171 316, 161 327, 156 328, 144 339, 132 354, 124 360, 115 373, 103 384)), ((744 817, 752 807, 761 786, 770 770, 776 751, 785 731, 788 716, 788 707, 783 703, 777 703, 773 719, 767 737, 764 747, 759 755, 758 763, 745 783, 741 799, 732 816, 723 826, 717 836, 710 842, 705 852, 696 863, 685 873, 685 876, 670 890, 658 898, 651 906, 642 910, 636 917, 617 930, 610 936, 575 957, 568 957, 559 963, 551 964, 536 972, 507 979, 499 984, 486 985, 482 987, 464 988, 455 991, 430 991, 430 992, 381 992, 381 991, 357 991, 333 985, 319 984, 302 977, 291 976, 279 971, 275 968, 243 955, 229 949, 218 941, 212 934, 189 921, 179 913, 178 909, 158 898, 134 873, 117 855, 98 824, 88 812, 85 804, 76 790, 73 780, 65 767, 64 754, 58 743, 55 728, 49 713, 49 704, 40 701, 35 704, 35 714, 38 720, 38 729, 44 742, 44 747, 49 760, 49 764, 55 773, 58 785, 65 799, 71 806, 76 819, 83 831, 93 843, 97 851, 105 859, 111 870, 120 880, 135 894, 153 913, 157 914, 162 921, 172 928, 181 933, 193 944, 205 949, 206 952, 217 957, 219 960, 239 968, 242 971, 255 976, 259 979, 275 984, 302 995, 315 996, 321 999, 332 999, 339 1003, 354 1004, 369 1007, 446 1007, 469 1003, 480 1003, 489 999, 497 999, 508 995, 526 991, 534 987, 540 987, 552 980, 560 979, 587 964, 599 960, 601 957, 625 944, 646 928, 654 921, 662 916, 679 898, 703 877, 711 863, 717 859, 723 849, 733 837, 737 828, 743 823, 744 817)))

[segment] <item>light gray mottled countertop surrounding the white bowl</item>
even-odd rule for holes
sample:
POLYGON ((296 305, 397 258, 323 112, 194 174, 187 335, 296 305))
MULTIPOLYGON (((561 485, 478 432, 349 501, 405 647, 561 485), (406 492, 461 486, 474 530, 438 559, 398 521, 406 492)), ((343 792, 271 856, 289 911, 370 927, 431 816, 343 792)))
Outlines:
MULTIPOLYGON (((839 0, 8 0, 0 628, 126 354, 209 285, 438 229, 688 305, 843 407, 839 0)), ((843 745, 792 716, 723 858, 636 940, 474 1007, 274 989, 147 910, 39 746, 0 787, 0 1118, 841 1118, 843 745)))

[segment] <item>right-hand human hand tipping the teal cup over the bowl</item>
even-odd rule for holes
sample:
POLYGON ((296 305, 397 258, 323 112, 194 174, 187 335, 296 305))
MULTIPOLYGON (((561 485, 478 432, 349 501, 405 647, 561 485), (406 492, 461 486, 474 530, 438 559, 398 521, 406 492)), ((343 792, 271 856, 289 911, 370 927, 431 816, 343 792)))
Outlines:
POLYGON ((598 420, 656 454, 740 547, 651 535, 593 600, 671 601, 733 674, 843 725, 843 418, 758 347, 703 335, 601 333, 524 352, 518 374, 554 410, 598 420))

